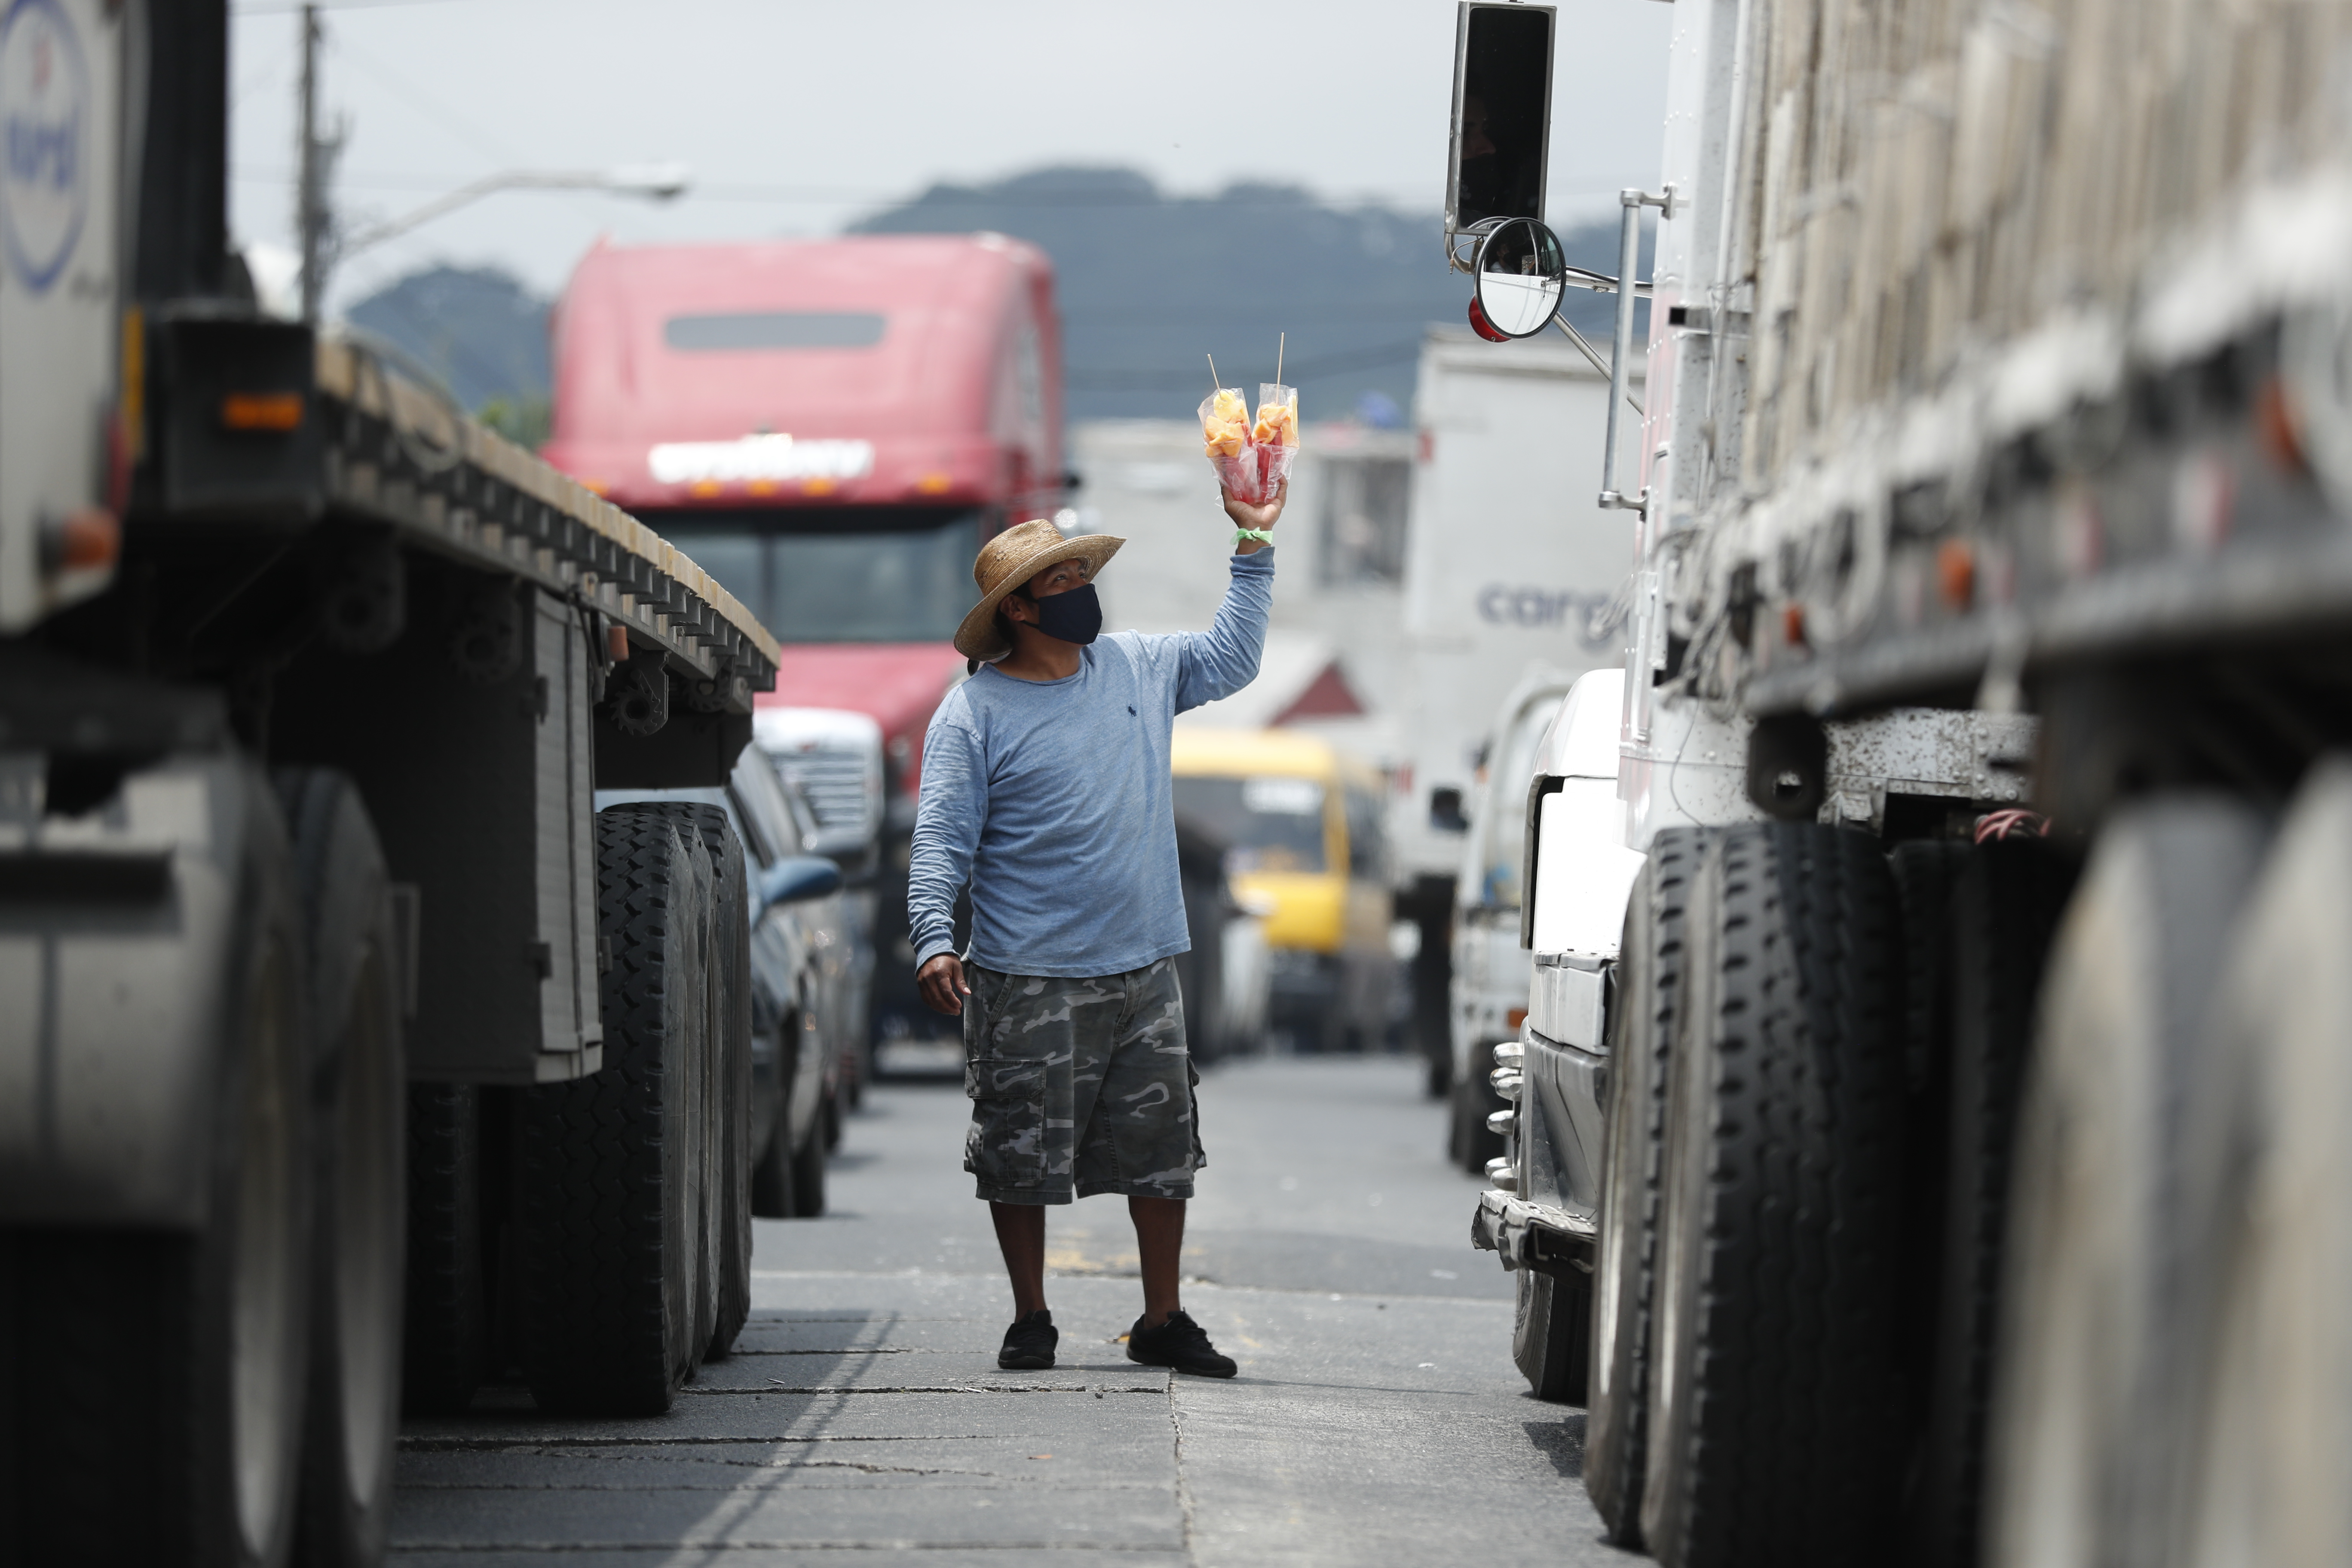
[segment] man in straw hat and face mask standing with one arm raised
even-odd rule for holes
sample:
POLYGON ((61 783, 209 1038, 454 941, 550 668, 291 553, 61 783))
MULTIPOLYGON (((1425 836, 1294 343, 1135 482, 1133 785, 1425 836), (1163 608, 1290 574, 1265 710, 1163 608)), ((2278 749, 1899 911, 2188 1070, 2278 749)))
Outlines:
MULTIPOLYGON (((1094 578, 1122 538, 1007 529, 971 567, 981 602, 955 646, 981 661, 922 743, 908 922, 924 1001, 964 1018, 964 1168, 997 1227, 1014 1326, 997 1366, 1054 1366, 1044 1206, 1117 1192, 1136 1222, 1143 1316, 1127 1356, 1232 1378, 1178 1300, 1183 1206, 1202 1168, 1176 954, 1169 729, 1258 675, 1275 520, 1242 505, 1232 583, 1207 632, 1101 637, 1094 578), (971 947, 955 954, 955 896, 971 947)), ((1207 997, 1197 999, 1207 1006, 1207 997)))

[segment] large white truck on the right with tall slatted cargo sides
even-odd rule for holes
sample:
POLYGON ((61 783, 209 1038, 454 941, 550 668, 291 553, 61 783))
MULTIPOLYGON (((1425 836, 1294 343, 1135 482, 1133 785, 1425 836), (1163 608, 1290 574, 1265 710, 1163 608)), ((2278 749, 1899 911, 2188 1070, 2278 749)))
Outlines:
MULTIPOLYGON (((1534 9, 1463 7, 1505 153, 1534 9)), ((1588 677, 1475 1220, 1522 1368, 1677 1568, 2352 1561, 2352 7, 1677 12, 1613 795, 1588 677)))

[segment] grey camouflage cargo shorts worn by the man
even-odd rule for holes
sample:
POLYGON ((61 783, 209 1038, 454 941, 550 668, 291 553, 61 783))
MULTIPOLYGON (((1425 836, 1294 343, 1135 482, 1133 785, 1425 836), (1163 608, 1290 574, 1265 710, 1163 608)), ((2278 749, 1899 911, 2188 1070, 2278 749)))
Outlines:
POLYGON ((1192 1197, 1207 1159, 1174 959, 1091 980, 964 964, 964 1168, 978 1197, 1192 1197))

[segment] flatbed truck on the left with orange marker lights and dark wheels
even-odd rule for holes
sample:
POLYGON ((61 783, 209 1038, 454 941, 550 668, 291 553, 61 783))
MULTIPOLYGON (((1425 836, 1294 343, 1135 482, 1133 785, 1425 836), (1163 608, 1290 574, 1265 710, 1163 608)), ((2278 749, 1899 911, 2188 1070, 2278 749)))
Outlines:
MULTIPOLYGON (((221 0, 0 16, 0 1540, 381 1561, 395 1420, 750 1307, 776 639, 226 242, 221 0), (125 1490, 129 1488, 129 1490, 125 1490)), ((797 884, 795 884, 797 886, 797 884)))

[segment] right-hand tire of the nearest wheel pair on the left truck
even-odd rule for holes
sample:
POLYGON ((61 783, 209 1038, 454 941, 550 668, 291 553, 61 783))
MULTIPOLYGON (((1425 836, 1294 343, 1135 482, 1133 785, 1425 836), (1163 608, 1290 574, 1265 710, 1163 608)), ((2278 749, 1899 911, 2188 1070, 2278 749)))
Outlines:
POLYGON ((310 1401, 296 1554, 381 1563, 400 1425, 405 1265, 400 961, 367 806, 325 769, 278 776, 310 933, 310 1401))

